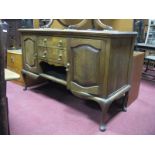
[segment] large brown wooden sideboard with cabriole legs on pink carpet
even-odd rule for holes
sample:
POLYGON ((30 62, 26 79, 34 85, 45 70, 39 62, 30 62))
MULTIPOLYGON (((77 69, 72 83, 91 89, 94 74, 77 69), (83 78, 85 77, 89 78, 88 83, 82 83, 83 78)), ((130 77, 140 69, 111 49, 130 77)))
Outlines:
POLYGON ((70 29, 20 32, 25 76, 52 80, 78 97, 96 101, 102 110, 101 131, 106 129, 105 116, 114 100, 123 97, 122 109, 126 109, 136 33, 70 29))

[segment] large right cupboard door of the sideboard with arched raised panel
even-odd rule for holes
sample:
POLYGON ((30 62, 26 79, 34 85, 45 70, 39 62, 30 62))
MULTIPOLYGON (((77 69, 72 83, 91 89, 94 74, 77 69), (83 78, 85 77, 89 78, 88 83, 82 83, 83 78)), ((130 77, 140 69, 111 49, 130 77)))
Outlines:
POLYGON ((70 39, 68 87, 71 91, 99 95, 103 86, 105 42, 70 39))

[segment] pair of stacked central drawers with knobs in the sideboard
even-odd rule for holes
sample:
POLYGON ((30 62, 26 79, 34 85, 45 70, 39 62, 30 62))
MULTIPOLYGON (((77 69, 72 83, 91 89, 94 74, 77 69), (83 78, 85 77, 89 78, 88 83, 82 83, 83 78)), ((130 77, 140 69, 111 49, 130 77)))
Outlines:
POLYGON ((39 60, 59 66, 67 63, 65 38, 40 36, 37 40, 37 51, 39 60))

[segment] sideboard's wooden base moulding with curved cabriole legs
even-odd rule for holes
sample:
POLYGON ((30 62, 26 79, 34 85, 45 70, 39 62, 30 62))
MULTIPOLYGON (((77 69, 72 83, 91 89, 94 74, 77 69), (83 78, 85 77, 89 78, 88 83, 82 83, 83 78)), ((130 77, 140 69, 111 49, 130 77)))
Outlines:
MULTIPOLYGON (((39 79, 40 77, 42 78, 45 78, 47 80, 51 80, 53 82, 56 82, 56 83, 59 83, 59 84, 62 84, 62 85, 65 85, 66 86, 66 82, 63 81, 63 80, 59 80, 55 77, 52 77, 52 76, 49 76, 47 74, 39 74, 39 75, 36 75, 36 74, 31 74, 31 72, 29 71, 26 71, 26 70, 22 70, 22 73, 24 75, 24 77, 26 78, 26 76, 30 76, 32 78, 35 78, 35 79, 39 79)), ((24 78, 24 79, 25 79, 24 78)), ((25 83, 26 84, 26 83, 25 83)), ((100 119, 100 131, 105 131, 106 130, 106 115, 107 115, 107 112, 109 110, 109 107, 111 106, 111 104, 113 103, 113 101, 119 99, 119 98, 123 98, 121 100, 121 105, 122 105, 122 111, 126 112, 127 111, 127 101, 128 101, 128 92, 130 90, 130 85, 126 85, 126 86, 123 86, 122 88, 120 88, 119 90, 117 90, 116 92, 112 93, 111 95, 109 95, 109 97, 107 98, 102 98, 102 97, 97 97, 97 96, 94 96, 92 94, 89 94, 89 93, 85 93, 85 92, 78 92, 78 91, 73 91, 73 90, 70 90, 71 93, 79 98, 82 98, 82 99, 86 99, 86 100, 93 100, 95 102, 97 102, 101 108, 101 119, 100 119)), ((25 89, 24 90, 27 90, 28 86, 25 85, 25 89)))

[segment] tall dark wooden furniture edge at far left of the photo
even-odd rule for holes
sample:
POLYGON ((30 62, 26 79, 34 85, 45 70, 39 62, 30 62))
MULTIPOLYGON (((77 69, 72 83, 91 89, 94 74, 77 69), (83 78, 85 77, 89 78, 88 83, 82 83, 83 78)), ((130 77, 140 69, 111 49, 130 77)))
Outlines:
POLYGON ((6 97, 6 81, 4 78, 7 29, 0 21, 0 135, 9 134, 8 102, 6 97))

